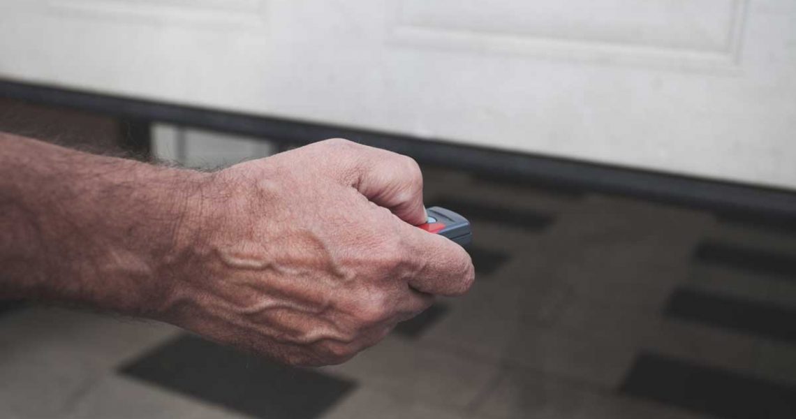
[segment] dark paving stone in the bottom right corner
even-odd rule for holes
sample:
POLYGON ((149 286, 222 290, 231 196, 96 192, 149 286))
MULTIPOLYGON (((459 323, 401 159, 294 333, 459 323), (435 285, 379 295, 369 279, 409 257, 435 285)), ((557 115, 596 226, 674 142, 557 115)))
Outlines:
POLYGON ((657 354, 639 356, 619 391, 728 419, 796 417, 796 387, 657 354))

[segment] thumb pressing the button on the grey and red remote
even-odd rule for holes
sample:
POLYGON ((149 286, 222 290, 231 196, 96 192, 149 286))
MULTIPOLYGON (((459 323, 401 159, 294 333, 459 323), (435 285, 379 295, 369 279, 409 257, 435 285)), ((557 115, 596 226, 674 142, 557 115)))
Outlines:
POLYGON ((405 155, 354 144, 351 186, 378 206, 384 206, 412 225, 427 221, 423 206, 423 173, 416 161, 405 155))

